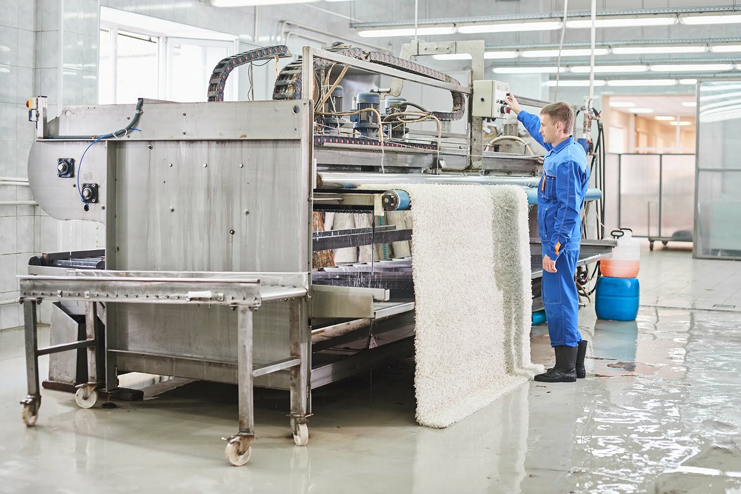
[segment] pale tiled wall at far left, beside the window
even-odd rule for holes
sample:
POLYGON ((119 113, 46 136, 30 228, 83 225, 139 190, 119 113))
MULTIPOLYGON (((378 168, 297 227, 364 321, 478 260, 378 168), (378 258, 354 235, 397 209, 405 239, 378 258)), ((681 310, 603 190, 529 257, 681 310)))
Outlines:
MULTIPOLYGON (((48 96, 51 116, 60 103, 97 102, 98 16, 98 0, 0 0, 0 176, 28 176, 28 98, 48 96)), ((0 201, 30 199, 29 187, 0 185, 0 201)), ((56 221, 39 207, 0 205, 0 302, 18 298, 16 274, 27 273, 28 258, 82 247, 83 237, 84 247, 95 247, 99 230, 56 221)), ((46 321, 49 304, 41 307, 46 321)), ((21 321, 19 304, 0 305, 0 329, 21 321)))

